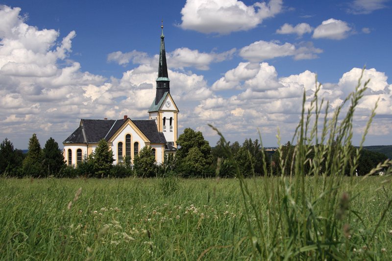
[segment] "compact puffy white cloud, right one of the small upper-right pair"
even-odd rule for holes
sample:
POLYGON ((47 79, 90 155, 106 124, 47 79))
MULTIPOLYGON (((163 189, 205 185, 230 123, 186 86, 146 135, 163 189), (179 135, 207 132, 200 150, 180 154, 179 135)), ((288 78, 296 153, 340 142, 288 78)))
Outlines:
POLYGON ((348 36, 352 29, 342 20, 328 19, 316 27, 313 32, 313 38, 327 38, 341 40, 348 36))

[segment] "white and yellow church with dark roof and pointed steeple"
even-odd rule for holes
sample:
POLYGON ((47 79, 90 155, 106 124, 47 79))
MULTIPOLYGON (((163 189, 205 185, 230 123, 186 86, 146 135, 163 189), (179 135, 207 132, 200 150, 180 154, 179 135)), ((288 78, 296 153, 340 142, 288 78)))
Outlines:
POLYGON ((101 139, 113 151, 114 164, 131 161, 144 146, 150 146, 157 163, 163 163, 165 154, 177 150, 178 108, 170 95, 170 80, 166 64, 163 25, 159 52, 156 95, 148 109, 148 119, 81 119, 79 127, 63 142, 67 165, 76 166, 90 155, 101 139))

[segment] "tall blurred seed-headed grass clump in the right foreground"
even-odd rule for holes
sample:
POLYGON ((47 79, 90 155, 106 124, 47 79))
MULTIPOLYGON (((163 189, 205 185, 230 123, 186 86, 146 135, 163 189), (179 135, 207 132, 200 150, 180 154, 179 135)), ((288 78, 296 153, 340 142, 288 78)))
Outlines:
MULTIPOLYGON (((302 114, 292 141, 296 141, 293 158, 287 158, 288 153, 285 158, 279 144, 279 178, 266 180, 256 191, 249 190, 250 181, 242 175, 229 144, 213 127, 223 140, 226 156, 236 167, 254 259, 379 259, 380 250, 374 249, 374 237, 391 207, 392 197, 387 194, 388 200, 375 226, 365 222, 363 209, 354 208, 353 201, 363 192, 360 188, 370 175, 385 168, 387 175, 392 173, 392 161, 380 163, 361 178, 353 176, 377 108, 376 104, 359 148, 354 148, 351 145, 354 111, 369 82, 362 85, 361 80, 362 76, 355 91, 331 114, 328 102, 322 112, 324 100, 319 99, 321 85, 316 79, 315 95, 310 102, 306 102, 305 92, 303 94, 302 114), (342 117, 343 110, 346 113, 342 117), (306 182, 306 176, 313 176, 311 183, 306 182)), ((278 141, 280 143, 279 137, 278 141)), ((266 165, 264 173, 268 173, 266 165)), ((386 184, 379 184, 377 190, 384 186, 386 184)))

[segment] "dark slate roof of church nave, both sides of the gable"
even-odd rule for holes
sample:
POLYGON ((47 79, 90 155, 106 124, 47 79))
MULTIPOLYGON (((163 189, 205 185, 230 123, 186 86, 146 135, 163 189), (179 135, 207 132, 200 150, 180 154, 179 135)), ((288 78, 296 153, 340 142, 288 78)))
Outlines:
MULTIPOLYGON (((131 121, 151 143, 166 143, 163 133, 158 132, 155 120, 131 121)), ((63 143, 98 143, 101 139, 108 141, 124 122, 124 119, 81 119, 80 126, 63 143)))

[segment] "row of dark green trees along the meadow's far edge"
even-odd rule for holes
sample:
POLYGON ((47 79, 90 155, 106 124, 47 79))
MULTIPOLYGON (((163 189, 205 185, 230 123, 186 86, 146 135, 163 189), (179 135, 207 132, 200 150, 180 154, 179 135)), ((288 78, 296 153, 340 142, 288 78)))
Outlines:
MULTIPOLYGON (((168 173, 183 177, 234 177, 236 168, 245 177, 264 176, 268 173, 279 175, 282 171, 280 161, 286 161, 285 173, 290 173, 293 165, 295 145, 287 142, 280 148, 280 153, 262 150, 260 142, 256 139, 245 139, 242 145, 239 142, 229 142, 229 153, 223 141, 211 147, 200 131, 186 128, 177 140, 179 149, 176 154, 165 155, 163 164, 157 164, 151 148, 145 146, 133 159, 125 157, 123 162, 113 165, 113 152, 105 140, 98 143, 93 153, 85 156, 77 166, 67 166, 58 143, 49 138, 44 148, 38 141, 36 134, 29 139, 28 152, 24 155, 20 149, 14 149, 10 140, 5 138, 0 144, 0 173, 10 177, 156 177, 168 173), (231 155, 231 156, 230 156, 231 155)), ((318 145, 322 146, 322 145, 318 145)), ((354 151, 354 149, 352 150, 354 151)), ((333 150, 332 152, 333 153, 333 150)), ((314 149, 309 151, 309 158, 314 155, 314 149), (313 153, 313 154, 312 154, 313 153)), ((352 155, 354 157, 354 154, 352 155)), ((362 150, 358 162, 357 173, 365 175, 387 156, 362 150)), ((308 163, 309 164, 309 163, 308 163)), ((305 166, 305 169, 307 167, 305 166)), ((310 166, 308 166, 310 169, 310 166)), ((322 172, 322 169, 320 170, 322 172)), ((346 170, 346 174, 349 170, 346 170)), ((312 173, 308 173, 312 175, 312 173)))

